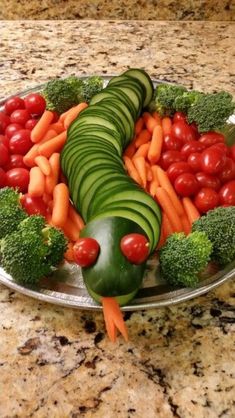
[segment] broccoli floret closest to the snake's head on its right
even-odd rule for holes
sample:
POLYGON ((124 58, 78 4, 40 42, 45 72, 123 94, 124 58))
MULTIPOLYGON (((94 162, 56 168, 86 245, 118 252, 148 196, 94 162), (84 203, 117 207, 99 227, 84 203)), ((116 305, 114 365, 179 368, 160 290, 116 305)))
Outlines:
POLYGON ((193 287, 207 266, 212 244, 204 232, 175 233, 160 250, 163 277, 174 286, 193 287))

